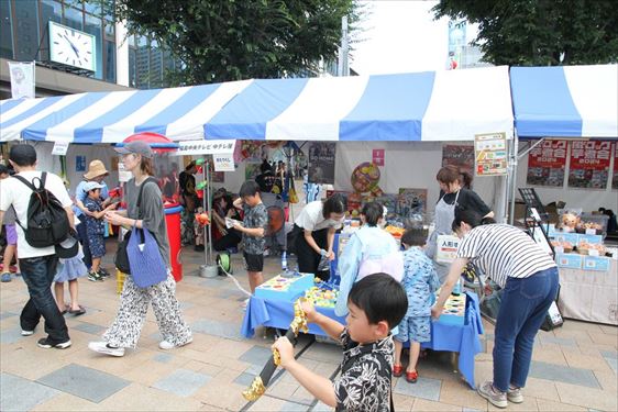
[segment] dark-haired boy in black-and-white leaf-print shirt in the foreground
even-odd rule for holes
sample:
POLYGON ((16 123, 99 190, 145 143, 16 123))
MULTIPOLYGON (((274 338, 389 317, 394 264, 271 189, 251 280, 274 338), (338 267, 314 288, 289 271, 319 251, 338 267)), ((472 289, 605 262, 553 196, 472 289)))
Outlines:
POLYGON ((369 275, 352 287, 346 326, 302 303, 307 321, 317 323, 343 346, 341 375, 331 382, 294 358, 286 337, 275 342, 280 366, 317 399, 336 411, 394 411, 391 388, 393 336, 389 334, 408 308, 406 292, 390 275, 369 275))

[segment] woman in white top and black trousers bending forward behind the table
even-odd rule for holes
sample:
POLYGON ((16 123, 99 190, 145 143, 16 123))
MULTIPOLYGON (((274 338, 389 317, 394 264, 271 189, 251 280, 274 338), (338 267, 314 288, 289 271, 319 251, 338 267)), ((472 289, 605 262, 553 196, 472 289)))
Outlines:
POLYGON ((330 271, 318 271, 322 257, 334 260, 332 245, 334 232, 343 225, 347 202, 345 198, 335 193, 325 201, 317 200, 308 203, 296 218, 295 241, 296 256, 298 257, 298 271, 314 274, 327 281, 330 271))

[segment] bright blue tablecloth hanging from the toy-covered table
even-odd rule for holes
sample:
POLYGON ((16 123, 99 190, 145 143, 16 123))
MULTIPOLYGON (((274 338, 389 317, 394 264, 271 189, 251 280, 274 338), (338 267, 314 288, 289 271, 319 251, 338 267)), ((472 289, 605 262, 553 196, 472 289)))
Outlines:
MULTIPOLYGON (((451 325, 440 321, 431 322, 431 341, 423 343, 423 348, 456 352, 460 354, 459 369, 472 389, 474 386, 474 357, 482 350, 478 335, 484 333, 481 321, 478 297, 466 292, 465 324, 451 325)), ((316 308, 318 312, 345 324, 344 318, 334 314, 334 309, 316 308)), ((252 337, 257 326, 287 330, 294 319, 293 302, 251 297, 241 326, 244 337, 252 337)), ((327 336, 320 326, 310 323, 309 333, 327 336)))

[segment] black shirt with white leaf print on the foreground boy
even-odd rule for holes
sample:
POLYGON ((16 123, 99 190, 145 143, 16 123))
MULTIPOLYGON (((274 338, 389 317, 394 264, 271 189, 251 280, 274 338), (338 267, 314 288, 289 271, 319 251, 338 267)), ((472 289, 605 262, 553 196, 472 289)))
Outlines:
POLYGON ((343 363, 341 376, 334 380, 335 411, 390 411, 393 336, 368 345, 350 338, 347 329, 341 333, 343 363))

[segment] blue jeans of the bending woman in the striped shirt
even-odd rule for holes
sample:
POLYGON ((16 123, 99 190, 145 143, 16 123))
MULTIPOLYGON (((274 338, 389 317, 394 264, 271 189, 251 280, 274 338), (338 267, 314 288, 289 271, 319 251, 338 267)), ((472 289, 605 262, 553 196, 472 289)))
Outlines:
POLYGON ((526 386, 534 336, 558 293, 558 268, 529 278, 508 278, 496 319, 494 387, 506 392, 509 383, 526 386))

